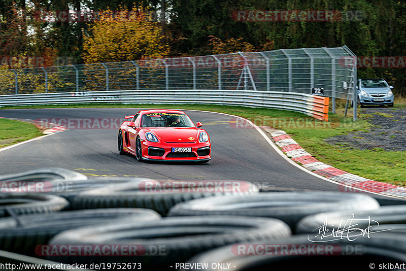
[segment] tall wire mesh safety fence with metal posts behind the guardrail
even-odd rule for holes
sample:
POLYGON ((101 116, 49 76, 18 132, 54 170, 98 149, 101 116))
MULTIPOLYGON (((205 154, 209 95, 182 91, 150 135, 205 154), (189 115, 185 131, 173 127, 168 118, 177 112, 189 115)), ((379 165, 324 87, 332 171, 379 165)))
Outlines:
POLYGON ((301 48, 253 53, 94 63, 0 71, 0 95, 148 89, 218 89, 311 93, 351 99, 355 66, 348 48, 301 48))

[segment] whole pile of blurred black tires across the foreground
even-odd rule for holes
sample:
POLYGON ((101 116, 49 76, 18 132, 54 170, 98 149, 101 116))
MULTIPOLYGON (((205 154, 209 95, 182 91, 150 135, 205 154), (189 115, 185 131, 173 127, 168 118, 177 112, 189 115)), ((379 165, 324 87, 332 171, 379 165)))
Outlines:
POLYGON ((61 171, 52 175, 51 168, 41 171, 0 176, 0 185, 33 181, 52 188, 43 193, 7 189, 0 193, 0 249, 19 253, 17 258, 5 262, 28 257, 21 254, 35 256, 35 261, 65 264, 137 261, 144 270, 194 270, 186 263, 199 263, 200 267, 208 263, 204 270, 225 270, 227 264, 232 264, 228 270, 269 270, 305 264, 318 270, 331 263, 334 267, 360 270, 369 269, 370 263, 376 264, 376 268, 390 263, 396 269, 395 264, 406 262, 406 206, 388 205, 395 202, 391 198, 383 206, 379 204, 383 201, 363 193, 298 191, 272 185, 257 187, 248 182, 239 182, 245 188, 239 192, 201 192, 195 189, 200 182, 185 181, 182 183, 187 184, 186 191, 179 192, 176 188, 181 182, 177 181, 81 180, 83 176, 69 175, 67 170, 64 175, 61 171), (145 183, 154 189, 148 190, 145 183), (69 184, 70 189, 55 189, 56 184, 65 188, 69 184), (170 184, 171 191, 165 190, 163 184, 170 184), (71 209, 77 210, 66 211, 71 209), (337 230, 340 224, 336 222, 342 220, 344 226, 337 230), (343 228, 348 229, 348 223, 356 224, 352 232, 362 234, 351 233, 355 236, 350 234, 347 239, 348 231, 343 228), (340 238, 328 236, 333 230, 339 232, 340 238), (69 248, 68 245, 87 246, 90 251, 100 245, 110 246, 111 251, 118 246, 120 253, 139 254, 103 257, 83 255, 83 251, 81 255, 75 249, 73 255, 61 253, 66 250, 59 249, 69 248), (250 245, 254 248, 247 250, 250 245), (266 254, 269 245, 274 250, 266 254), (293 245, 297 245, 295 250, 293 245), (299 253, 300 245, 306 253, 299 253), (282 246, 284 251, 293 252, 275 254, 275 247, 282 246), (320 255, 312 254, 313 251, 332 251, 333 255, 315 257, 320 255))

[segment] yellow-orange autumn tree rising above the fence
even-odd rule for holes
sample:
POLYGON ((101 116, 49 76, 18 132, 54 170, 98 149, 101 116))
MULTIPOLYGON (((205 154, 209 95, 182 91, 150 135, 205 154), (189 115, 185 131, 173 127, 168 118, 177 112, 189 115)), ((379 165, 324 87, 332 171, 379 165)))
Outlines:
POLYGON ((162 58, 169 52, 159 22, 143 8, 105 10, 84 35, 85 63, 162 58))

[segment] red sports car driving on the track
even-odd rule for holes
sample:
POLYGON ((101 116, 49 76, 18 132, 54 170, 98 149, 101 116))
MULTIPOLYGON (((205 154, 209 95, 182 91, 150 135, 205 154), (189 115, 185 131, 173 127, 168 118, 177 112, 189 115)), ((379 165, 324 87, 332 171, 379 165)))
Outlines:
POLYGON ((210 138, 180 110, 141 110, 126 116, 118 131, 118 151, 141 160, 196 161, 210 158, 210 138))

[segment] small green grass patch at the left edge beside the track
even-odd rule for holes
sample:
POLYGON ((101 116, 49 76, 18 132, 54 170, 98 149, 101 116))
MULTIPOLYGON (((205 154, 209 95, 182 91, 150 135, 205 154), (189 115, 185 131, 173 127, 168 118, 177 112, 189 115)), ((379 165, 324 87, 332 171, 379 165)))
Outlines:
POLYGON ((0 119, 0 148, 42 135, 40 129, 31 123, 0 119))

